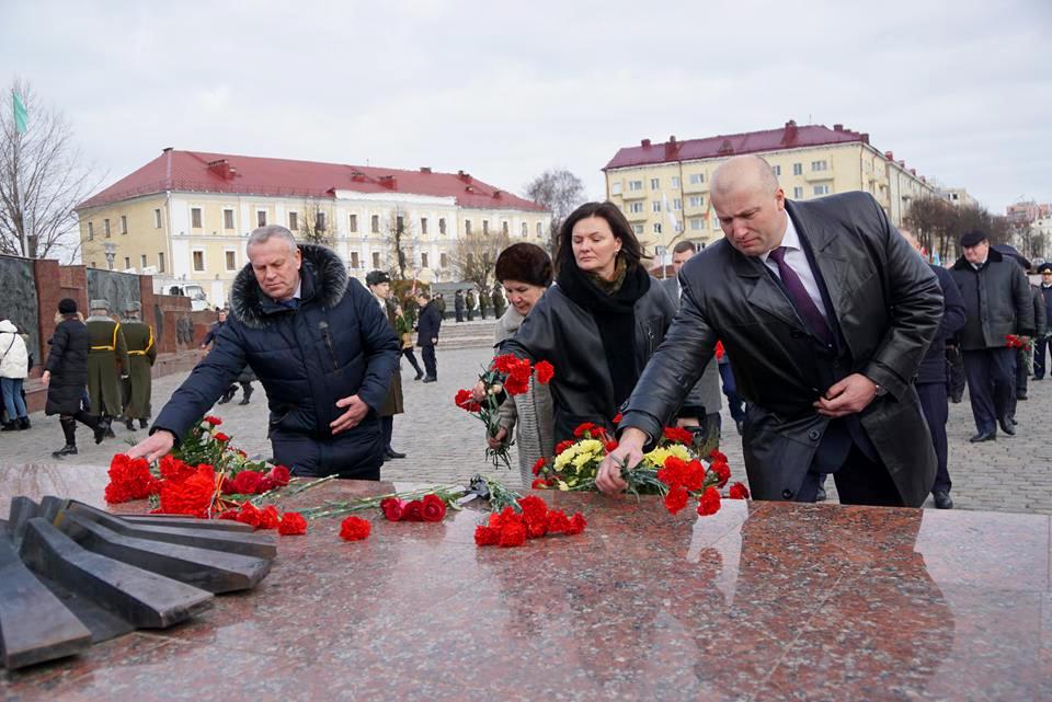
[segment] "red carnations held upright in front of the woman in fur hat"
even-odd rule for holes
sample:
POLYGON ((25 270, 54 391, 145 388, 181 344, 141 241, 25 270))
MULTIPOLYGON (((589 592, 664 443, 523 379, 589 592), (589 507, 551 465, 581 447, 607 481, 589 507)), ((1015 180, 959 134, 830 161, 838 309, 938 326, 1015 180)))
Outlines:
MULTIPOLYGON (((530 379, 547 385, 554 375, 554 368, 547 360, 533 365, 528 358, 505 354, 494 358, 490 368, 479 376, 479 382, 485 392, 481 402, 474 399, 471 390, 458 390, 454 402, 468 414, 478 417, 485 425, 487 436, 492 438, 501 430, 500 407, 504 400, 527 392, 530 379)), ((493 462, 494 468, 511 468, 507 449, 514 442, 512 437, 507 437, 500 448, 487 447, 485 457, 493 462)))

